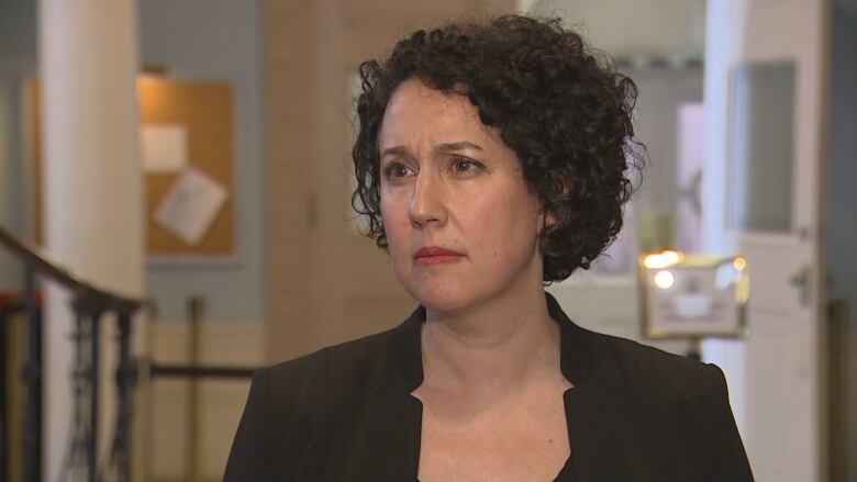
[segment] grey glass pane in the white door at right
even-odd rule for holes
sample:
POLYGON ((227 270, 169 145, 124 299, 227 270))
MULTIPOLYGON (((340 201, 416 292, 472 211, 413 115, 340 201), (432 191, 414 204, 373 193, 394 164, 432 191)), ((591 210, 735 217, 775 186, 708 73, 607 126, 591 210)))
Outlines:
POLYGON ((732 94, 728 226, 790 232, 794 65, 739 65, 732 94))

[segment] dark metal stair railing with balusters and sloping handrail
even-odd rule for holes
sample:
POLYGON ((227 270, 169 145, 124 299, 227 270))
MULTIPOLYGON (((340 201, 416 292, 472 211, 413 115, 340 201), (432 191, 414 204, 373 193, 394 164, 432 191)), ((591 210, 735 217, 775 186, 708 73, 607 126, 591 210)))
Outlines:
MULTIPOLYGON (((136 369, 131 356, 131 320, 142 306, 141 300, 86 282, 60 265, 52 261, 41 249, 32 246, 9 231, 0 227, 0 247, 12 253, 25 268, 26 282, 22 303, 16 311, 26 313, 26 356, 22 379, 26 397, 22 417, 23 481, 42 480, 42 305, 37 296, 37 278, 48 279, 67 289, 71 294, 75 314, 75 346, 73 380, 73 429, 63 466, 74 470, 85 480, 97 482, 102 468, 127 481, 131 477, 130 439, 132 416, 132 388, 136 369), (108 315, 115 315, 118 325, 119 362, 115 368, 116 421, 110 458, 102 466, 98 458, 99 390, 101 324, 108 315)), ((2 436, 3 431, 0 431, 2 436)), ((3 446, 0 440, 0 446, 3 446)), ((5 470, 0 467, 0 470, 5 470)), ((4 475, 4 473, 0 473, 4 475)))

